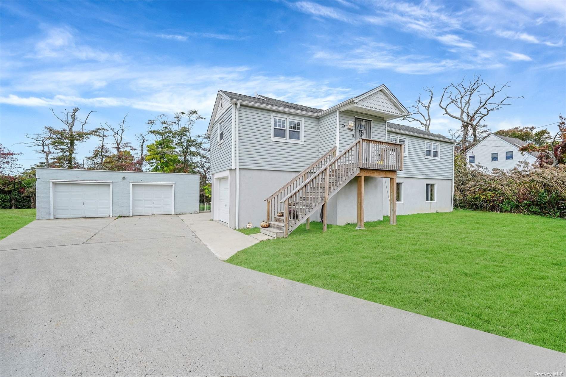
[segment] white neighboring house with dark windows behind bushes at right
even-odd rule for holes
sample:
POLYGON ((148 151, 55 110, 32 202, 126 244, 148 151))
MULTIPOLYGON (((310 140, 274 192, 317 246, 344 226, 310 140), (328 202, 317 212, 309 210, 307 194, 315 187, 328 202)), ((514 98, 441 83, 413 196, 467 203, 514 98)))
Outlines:
POLYGON ((521 152, 519 148, 528 143, 518 138, 491 133, 466 151, 466 160, 471 165, 486 167, 488 170, 511 170, 519 162, 534 163, 537 152, 521 152))

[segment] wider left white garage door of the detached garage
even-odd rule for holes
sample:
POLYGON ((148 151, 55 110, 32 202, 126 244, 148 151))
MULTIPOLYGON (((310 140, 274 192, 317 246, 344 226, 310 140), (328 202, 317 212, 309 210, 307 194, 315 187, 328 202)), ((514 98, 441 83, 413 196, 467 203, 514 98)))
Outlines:
POLYGON ((110 216, 110 185, 53 183, 53 217, 110 216))

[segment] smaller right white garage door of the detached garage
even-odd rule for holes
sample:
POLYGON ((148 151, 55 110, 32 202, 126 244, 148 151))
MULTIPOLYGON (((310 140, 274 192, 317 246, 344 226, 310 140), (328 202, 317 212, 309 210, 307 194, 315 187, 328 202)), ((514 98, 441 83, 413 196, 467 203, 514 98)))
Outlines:
POLYGON ((132 216, 173 213, 172 184, 133 184, 132 216))

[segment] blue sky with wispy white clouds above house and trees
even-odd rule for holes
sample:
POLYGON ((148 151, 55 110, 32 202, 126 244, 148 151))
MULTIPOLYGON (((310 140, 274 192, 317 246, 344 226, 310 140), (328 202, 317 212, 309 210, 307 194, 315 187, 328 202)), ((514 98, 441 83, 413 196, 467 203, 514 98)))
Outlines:
MULTIPOLYGON (((566 109, 565 35, 559 1, 4 1, 0 142, 27 167, 41 156, 14 144, 57 125, 49 107, 95 110, 92 128, 127 113, 133 141, 158 114, 208 118, 218 89, 325 109, 385 84, 409 106, 474 73, 524 96, 486 118, 492 130, 539 126, 566 109)), ((432 116, 434 132, 457 125, 432 116)))

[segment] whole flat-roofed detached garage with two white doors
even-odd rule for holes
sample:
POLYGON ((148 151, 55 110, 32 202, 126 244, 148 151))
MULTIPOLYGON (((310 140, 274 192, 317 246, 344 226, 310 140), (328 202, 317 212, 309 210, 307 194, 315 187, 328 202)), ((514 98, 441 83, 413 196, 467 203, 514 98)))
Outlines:
POLYGON ((199 211, 199 175, 37 168, 37 219, 199 211))

